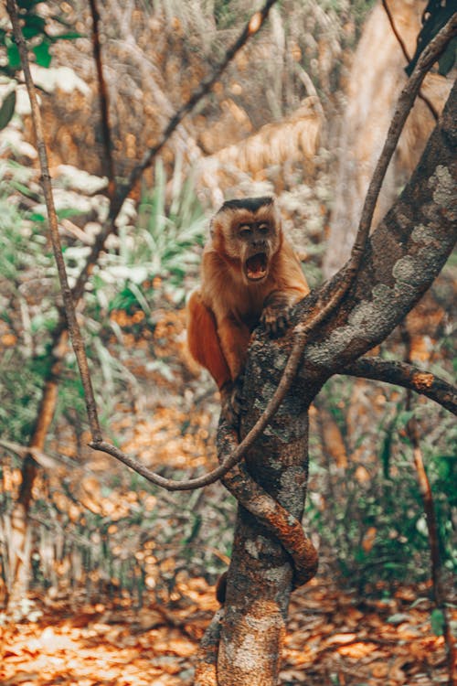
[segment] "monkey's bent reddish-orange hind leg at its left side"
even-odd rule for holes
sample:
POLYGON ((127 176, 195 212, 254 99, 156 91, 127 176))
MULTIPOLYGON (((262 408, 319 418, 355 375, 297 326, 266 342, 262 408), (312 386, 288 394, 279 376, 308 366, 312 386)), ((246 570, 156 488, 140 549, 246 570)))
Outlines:
POLYGON ((215 316, 199 291, 194 291, 187 304, 187 342, 192 356, 209 371, 221 390, 231 381, 230 370, 220 347, 215 316))

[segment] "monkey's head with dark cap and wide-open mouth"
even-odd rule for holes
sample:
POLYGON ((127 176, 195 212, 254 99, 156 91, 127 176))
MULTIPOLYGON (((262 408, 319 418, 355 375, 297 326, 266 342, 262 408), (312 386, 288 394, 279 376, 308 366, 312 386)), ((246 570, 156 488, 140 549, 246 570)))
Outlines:
POLYGON ((272 198, 230 200, 214 218, 212 236, 216 250, 241 273, 245 284, 261 284, 281 247, 279 212, 272 198))

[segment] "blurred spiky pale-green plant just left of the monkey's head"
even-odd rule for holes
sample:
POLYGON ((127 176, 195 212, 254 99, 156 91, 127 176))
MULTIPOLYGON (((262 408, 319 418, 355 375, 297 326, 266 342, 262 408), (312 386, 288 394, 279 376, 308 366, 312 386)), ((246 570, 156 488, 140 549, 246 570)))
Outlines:
POLYGON ((108 254, 97 272, 96 291, 104 302, 108 298, 110 311, 123 309, 132 313, 142 309, 150 316, 151 303, 156 299, 156 277, 165 283, 161 297, 165 295, 175 305, 182 305, 186 277, 197 273, 198 246, 203 244, 205 235, 201 205, 192 180, 181 182, 179 164, 175 166, 170 181, 171 198, 165 206, 166 181, 164 166, 158 160, 154 188, 143 190, 135 224, 120 229, 119 252, 108 254))

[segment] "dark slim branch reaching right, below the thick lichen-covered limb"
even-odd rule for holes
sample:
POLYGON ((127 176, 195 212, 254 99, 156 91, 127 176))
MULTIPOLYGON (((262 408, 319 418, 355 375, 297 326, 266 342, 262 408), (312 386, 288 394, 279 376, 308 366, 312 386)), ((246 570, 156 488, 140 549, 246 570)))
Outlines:
POLYGON ((408 362, 381 358, 359 358, 348 364, 341 374, 386 381, 427 396, 446 410, 457 414, 457 388, 430 371, 420 370, 408 362))

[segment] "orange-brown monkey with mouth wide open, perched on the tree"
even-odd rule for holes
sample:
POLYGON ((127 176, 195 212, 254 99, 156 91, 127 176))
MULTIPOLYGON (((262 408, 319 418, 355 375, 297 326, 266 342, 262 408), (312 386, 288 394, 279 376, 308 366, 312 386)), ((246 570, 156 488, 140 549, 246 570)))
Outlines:
POLYGON ((273 198, 228 200, 211 221, 210 234, 201 288, 188 303, 187 339, 193 357, 218 384, 229 416, 253 328, 261 321, 271 335, 281 335, 288 308, 309 287, 273 198))

